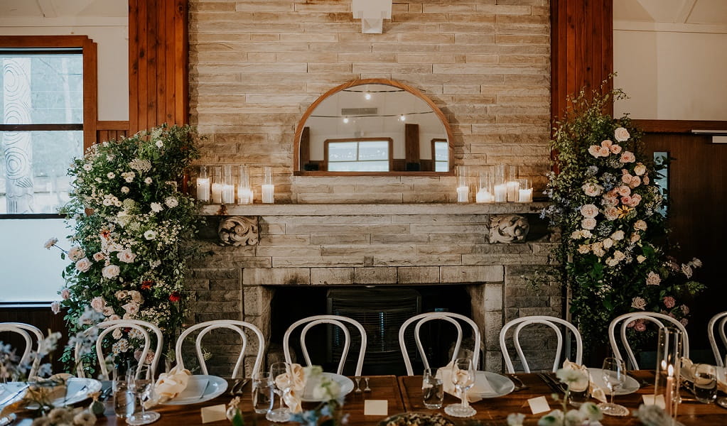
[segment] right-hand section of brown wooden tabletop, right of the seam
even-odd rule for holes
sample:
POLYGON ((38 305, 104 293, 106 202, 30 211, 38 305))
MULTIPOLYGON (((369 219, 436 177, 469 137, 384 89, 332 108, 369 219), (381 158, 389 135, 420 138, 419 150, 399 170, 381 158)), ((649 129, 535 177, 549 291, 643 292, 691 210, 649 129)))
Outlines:
MULTIPOLYGON (((637 371, 630 372, 638 382, 643 382, 640 389, 629 395, 614 397, 614 403, 626 406, 632 412, 638 409, 642 404, 642 396, 654 393, 654 372, 637 371), (646 385, 648 383, 648 385, 646 385)), ((526 415, 525 425, 536 425, 537 420, 545 413, 531 414, 528 405, 529 398, 537 396, 547 396, 550 408, 561 409, 560 402, 553 401, 550 395, 553 390, 538 377, 537 374, 515 374, 527 388, 515 391, 506 396, 499 398, 486 398, 481 401, 471 403, 477 410, 474 419, 483 425, 506 425, 507 414, 522 413, 526 415)), ((399 388, 401 397, 404 401, 406 411, 419 411, 423 413, 439 412, 443 414, 444 410, 426 409, 422 403, 422 377, 421 376, 403 376, 399 377, 399 388)), ((727 410, 720 408, 715 404, 702 404, 696 401, 693 396, 682 390, 683 402, 679 406, 678 420, 685 426, 691 425, 724 425, 727 424, 727 410)), ((562 395, 561 395, 562 397, 562 395)), ((596 400, 591 400, 598 403, 596 400)), ((455 398, 449 394, 444 395, 444 406, 448 404, 457 404, 459 398, 455 398)), ((573 409, 573 407, 569 407, 573 409)), ((445 414, 446 415, 446 414, 445 414)), ((604 416, 601 423, 608 425, 641 425, 635 417, 609 417, 604 416)))

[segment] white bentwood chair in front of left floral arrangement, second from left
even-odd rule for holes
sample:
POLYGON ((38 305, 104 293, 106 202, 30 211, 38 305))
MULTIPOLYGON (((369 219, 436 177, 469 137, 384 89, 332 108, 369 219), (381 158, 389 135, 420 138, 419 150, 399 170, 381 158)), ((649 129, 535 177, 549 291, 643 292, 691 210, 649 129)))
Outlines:
MULTIPOLYGON (((109 333, 111 333, 112 338, 116 340, 116 338, 113 337, 113 332, 116 329, 119 329, 122 332, 126 332, 126 336, 122 335, 121 337, 126 338, 126 340, 128 340, 128 335, 132 333, 131 330, 134 330, 135 333, 133 334, 137 335, 136 338, 143 340, 144 342, 141 352, 139 353, 139 364, 137 365, 137 372, 135 373, 136 375, 140 374, 142 366, 146 364, 145 360, 148 358, 148 354, 152 345, 152 339, 149 335, 149 330, 154 333, 156 337, 156 348, 154 349, 154 355, 150 362, 151 374, 153 376, 153 374, 156 373, 156 367, 159 363, 159 358, 161 357, 161 351, 164 348, 164 335, 161 334, 161 329, 159 329, 159 327, 157 327, 155 324, 147 321, 140 321, 138 319, 115 319, 112 321, 103 321, 87 329, 84 332, 88 336, 93 336, 96 333, 98 335, 96 339, 96 356, 101 370, 101 376, 105 380, 108 380, 109 378, 108 366, 106 366, 105 358, 103 355, 103 339, 109 333)), ((86 377, 83 366, 83 354, 81 353, 81 343, 76 343, 76 350, 74 351, 74 354, 76 359, 76 374, 78 375, 78 377, 86 377)))

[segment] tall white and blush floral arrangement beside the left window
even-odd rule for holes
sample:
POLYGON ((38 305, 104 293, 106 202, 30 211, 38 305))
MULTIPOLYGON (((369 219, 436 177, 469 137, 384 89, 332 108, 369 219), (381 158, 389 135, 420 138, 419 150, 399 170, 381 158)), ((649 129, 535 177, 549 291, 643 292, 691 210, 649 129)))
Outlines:
MULTIPOLYGON (((61 300, 52 304, 55 313, 67 309, 72 333, 94 324, 84 317, 90 307, 102 320, 140 319, 174 336, 185 316, 183 282, 194 250, 185 242, 198 222, 198 205, 177 181, 197 157, 192 128, 165 125, 95 144, 73 161, 71 201, 62 213, 74 245, 61 255, 71 263, 61 300)), ((113 337, 114 355, 128 356, 138 336, 119 330, 113 337)))

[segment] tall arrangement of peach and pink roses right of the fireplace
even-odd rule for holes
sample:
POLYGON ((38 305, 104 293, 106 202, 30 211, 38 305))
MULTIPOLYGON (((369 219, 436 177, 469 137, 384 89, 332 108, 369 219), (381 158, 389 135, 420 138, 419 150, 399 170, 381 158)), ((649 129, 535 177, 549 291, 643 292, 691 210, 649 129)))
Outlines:
MULTIPOLYGON (((691 281, 698 259, 677 263, 667 255, 664 199, 655 179, 662 164, 643 155, 640 134, 627 116, 614 119, 607 102, 620 90, 581 91, 556 123, 551 147, 559 173, 550 173, 543 211, 561 229, 555 250, 561 282, 571 292, 571 313, 588 343, 605 343, 611 319, 654 311, 688 321, 687 303, 702 284, 691 281)), ((642 321, 630 333, 646 330, 642 321)), ((590 346, 590 345, 589 345, 590 346)))

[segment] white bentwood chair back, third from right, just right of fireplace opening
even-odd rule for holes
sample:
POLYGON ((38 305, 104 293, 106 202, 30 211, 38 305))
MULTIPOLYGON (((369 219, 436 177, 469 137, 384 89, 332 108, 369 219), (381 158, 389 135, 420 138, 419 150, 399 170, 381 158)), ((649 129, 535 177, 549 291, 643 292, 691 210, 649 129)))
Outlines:
POLYGON ((500 351, 502 351, 502 357, 505 359, 505 366, 507 367, 507 372, 512 374, 515 372, 515 366, 513 366, 513 361, 510 359, 510 353, 507 351, 507 344, 505 343, 505 335, 507 334, 507 330, 515 327, 515 330, 513 332, 513 344, 515 345, 515 351, 518 353, 518 358, 520 359, 521 363, 523 364, 523 370, 526 373, 530 372, 530 366, 528 365, 528 361, 525 358, 525 353, 523 353, 523 348, 520 344, 520 332, 524 327, 527 327, 532 324, 543 324, 547 327, 550 327, 555 331, 555 337, 558 339, 558 348, 555 350, 555 359, 553 361, 553 372, 560 368, 561 364, 561 353, 563 353, 563 332, 561 330, 561 327, 558 327, 558 325, 562 325, 566 327, 576 338, 576 359, 575 362, 577 364, 582 364, 583 362, 583 340, 581 338, 581 333, 578 332, 578 329, 571 324, 569 321, 566 321, 565 319, 560 319, 555 316, 547 316, 547 315, 534 315, 534 316, 523 316, 522 318, 513 319, 512 321, 508 321, 507 324, 505 324, 504 327, 502 327, 502 330, 500 330, 499 335, 499 342, 500 342, 500 351))

